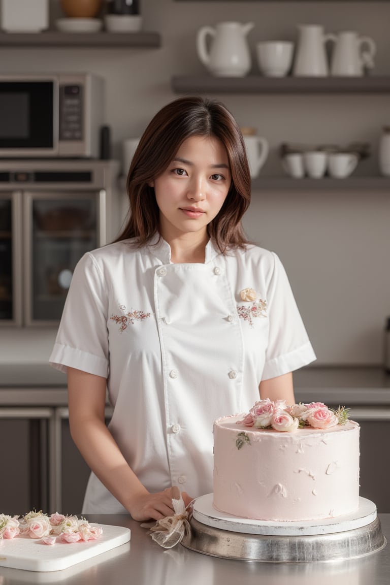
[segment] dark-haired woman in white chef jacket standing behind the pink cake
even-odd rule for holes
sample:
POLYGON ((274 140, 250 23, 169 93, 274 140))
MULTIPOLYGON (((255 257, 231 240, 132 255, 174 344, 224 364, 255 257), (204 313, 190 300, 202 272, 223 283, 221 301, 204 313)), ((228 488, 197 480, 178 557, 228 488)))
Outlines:
POLYGON ((294 402, 291 372, 315 354, 278 256, 244 238, 250 186, 219 102, 177 99, 141 137, 131 215, 78 262, 50 357, 92 469, 84 513, 171 515, 171 486, 186 503, 213 491, 215 419, 248 411, 259 389, 294 402))

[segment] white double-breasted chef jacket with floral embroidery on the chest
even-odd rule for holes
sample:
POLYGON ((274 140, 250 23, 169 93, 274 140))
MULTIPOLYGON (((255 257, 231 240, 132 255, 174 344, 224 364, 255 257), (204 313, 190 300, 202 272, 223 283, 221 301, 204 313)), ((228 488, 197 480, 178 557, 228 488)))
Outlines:
MULTIPOLYGON (((109 429, 150 492, 212 492, 213 421, 248 411, 261 380, 315 359, 274 252, 173 264, 165 240, 123 240, 78 262, 50 362, 107 377, 109 429), (254 301, 240 291, 253 288, 254 301)), ((92 473, 83 512, 125 508, 92 473)))

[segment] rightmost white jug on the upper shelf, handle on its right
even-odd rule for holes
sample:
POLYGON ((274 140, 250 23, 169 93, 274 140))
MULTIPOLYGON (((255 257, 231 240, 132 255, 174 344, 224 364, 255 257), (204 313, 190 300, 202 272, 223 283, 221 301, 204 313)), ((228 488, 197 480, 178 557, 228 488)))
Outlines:
POLYGON ((330 73, 360 77, 364 67, 374 67, 376 52, 377 47, 370 37, 360 37, 354 30, 345 30, 337 35, 330 73))

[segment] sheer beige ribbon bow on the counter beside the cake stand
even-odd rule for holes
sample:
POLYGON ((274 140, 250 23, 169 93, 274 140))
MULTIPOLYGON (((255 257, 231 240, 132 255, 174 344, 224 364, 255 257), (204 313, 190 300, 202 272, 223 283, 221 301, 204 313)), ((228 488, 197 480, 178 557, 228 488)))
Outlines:
POLYGON ((174 510, 173 516, 167 516, 161 518, 157 523, 150 529, 150 536, 154 542, 163 548, 172 548, 182 541, 184 536, 191 533, 191 526, 189 525, 189 517, 191 514, 191 504, 186 508, 184 501, 177 490, 179 497, 178 499, 172 498, 172 506, 174 510))

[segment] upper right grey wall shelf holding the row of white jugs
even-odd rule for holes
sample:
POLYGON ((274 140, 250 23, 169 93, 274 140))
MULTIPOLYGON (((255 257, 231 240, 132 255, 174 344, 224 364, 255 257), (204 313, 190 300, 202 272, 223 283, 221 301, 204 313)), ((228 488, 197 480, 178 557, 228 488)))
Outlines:
POLYGON ((390 92, 390 77, 213 77, 174 76, 171 87, 177 94, 381 94, 390 92))

